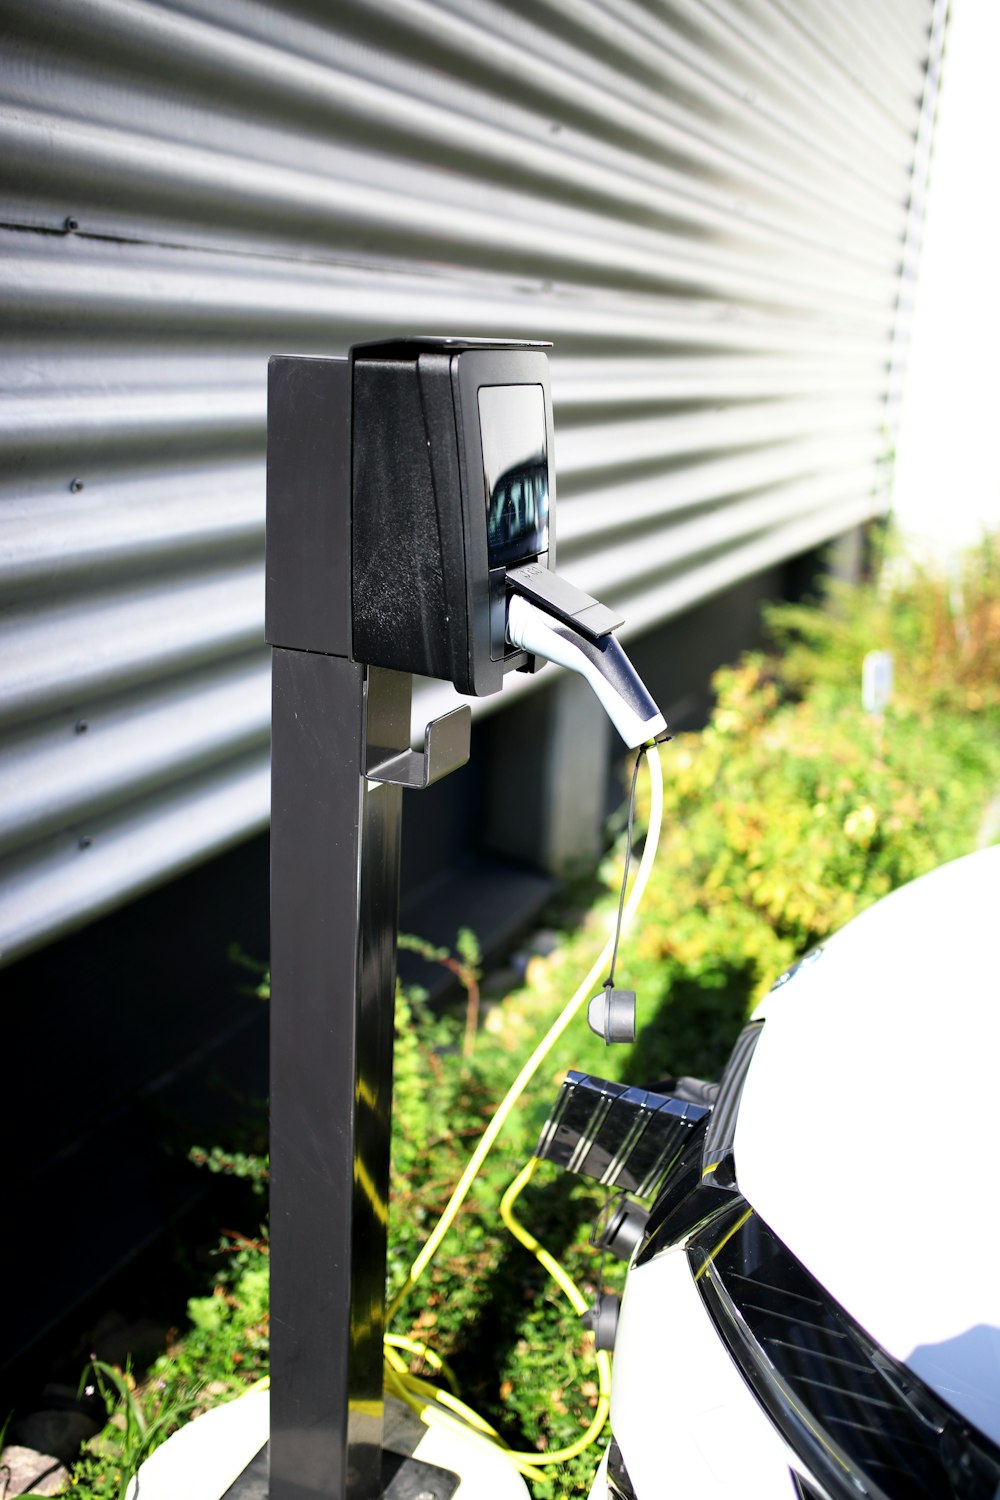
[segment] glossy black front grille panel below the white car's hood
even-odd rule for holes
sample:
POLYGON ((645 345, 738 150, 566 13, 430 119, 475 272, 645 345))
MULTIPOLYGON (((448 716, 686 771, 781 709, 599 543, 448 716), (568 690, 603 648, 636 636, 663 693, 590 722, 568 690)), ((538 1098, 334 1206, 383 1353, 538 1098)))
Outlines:
POLYGON ((736 1364, 826 1492, 997 1500, 1000 1449, 879 1348, 741 1198, 688 1257, 736 1364))

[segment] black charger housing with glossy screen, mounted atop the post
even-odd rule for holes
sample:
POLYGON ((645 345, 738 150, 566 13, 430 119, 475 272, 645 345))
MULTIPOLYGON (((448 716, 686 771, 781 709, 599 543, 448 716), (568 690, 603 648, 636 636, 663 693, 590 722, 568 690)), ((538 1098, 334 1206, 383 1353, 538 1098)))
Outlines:
POLYGON ((489 694, 535 662, 505 639, 507 568, 555 568, 549 362, 538 344, 351 350, 352 656, 489 694))

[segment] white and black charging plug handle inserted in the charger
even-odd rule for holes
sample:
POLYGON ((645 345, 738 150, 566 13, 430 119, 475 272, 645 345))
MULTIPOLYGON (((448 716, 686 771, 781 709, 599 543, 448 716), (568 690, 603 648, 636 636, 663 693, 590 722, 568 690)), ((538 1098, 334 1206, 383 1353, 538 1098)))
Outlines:
POLYGON ((522 651, 585 676, 631 750, 655 740, 667 728, 615 636, 588 639, 573 626, 513 594, 507 602, 507 639, 522 651))

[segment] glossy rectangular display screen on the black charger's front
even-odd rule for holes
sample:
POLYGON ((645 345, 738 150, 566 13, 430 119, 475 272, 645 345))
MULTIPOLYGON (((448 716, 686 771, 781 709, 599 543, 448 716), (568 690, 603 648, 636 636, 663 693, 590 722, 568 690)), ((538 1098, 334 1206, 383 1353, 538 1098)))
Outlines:
POLYGON ((480 432, 490 567, 549 549, 549 450, 541 386, 481 386, 480 432))

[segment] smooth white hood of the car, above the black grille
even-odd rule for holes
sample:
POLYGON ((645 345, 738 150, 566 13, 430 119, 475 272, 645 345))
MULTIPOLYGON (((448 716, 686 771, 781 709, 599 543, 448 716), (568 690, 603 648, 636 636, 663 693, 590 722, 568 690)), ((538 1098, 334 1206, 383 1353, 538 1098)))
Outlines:
POLYGON ((741 1192, 831 1296, 1000 1443, 1000 848, 879 902, 774 990, 741 1192))

